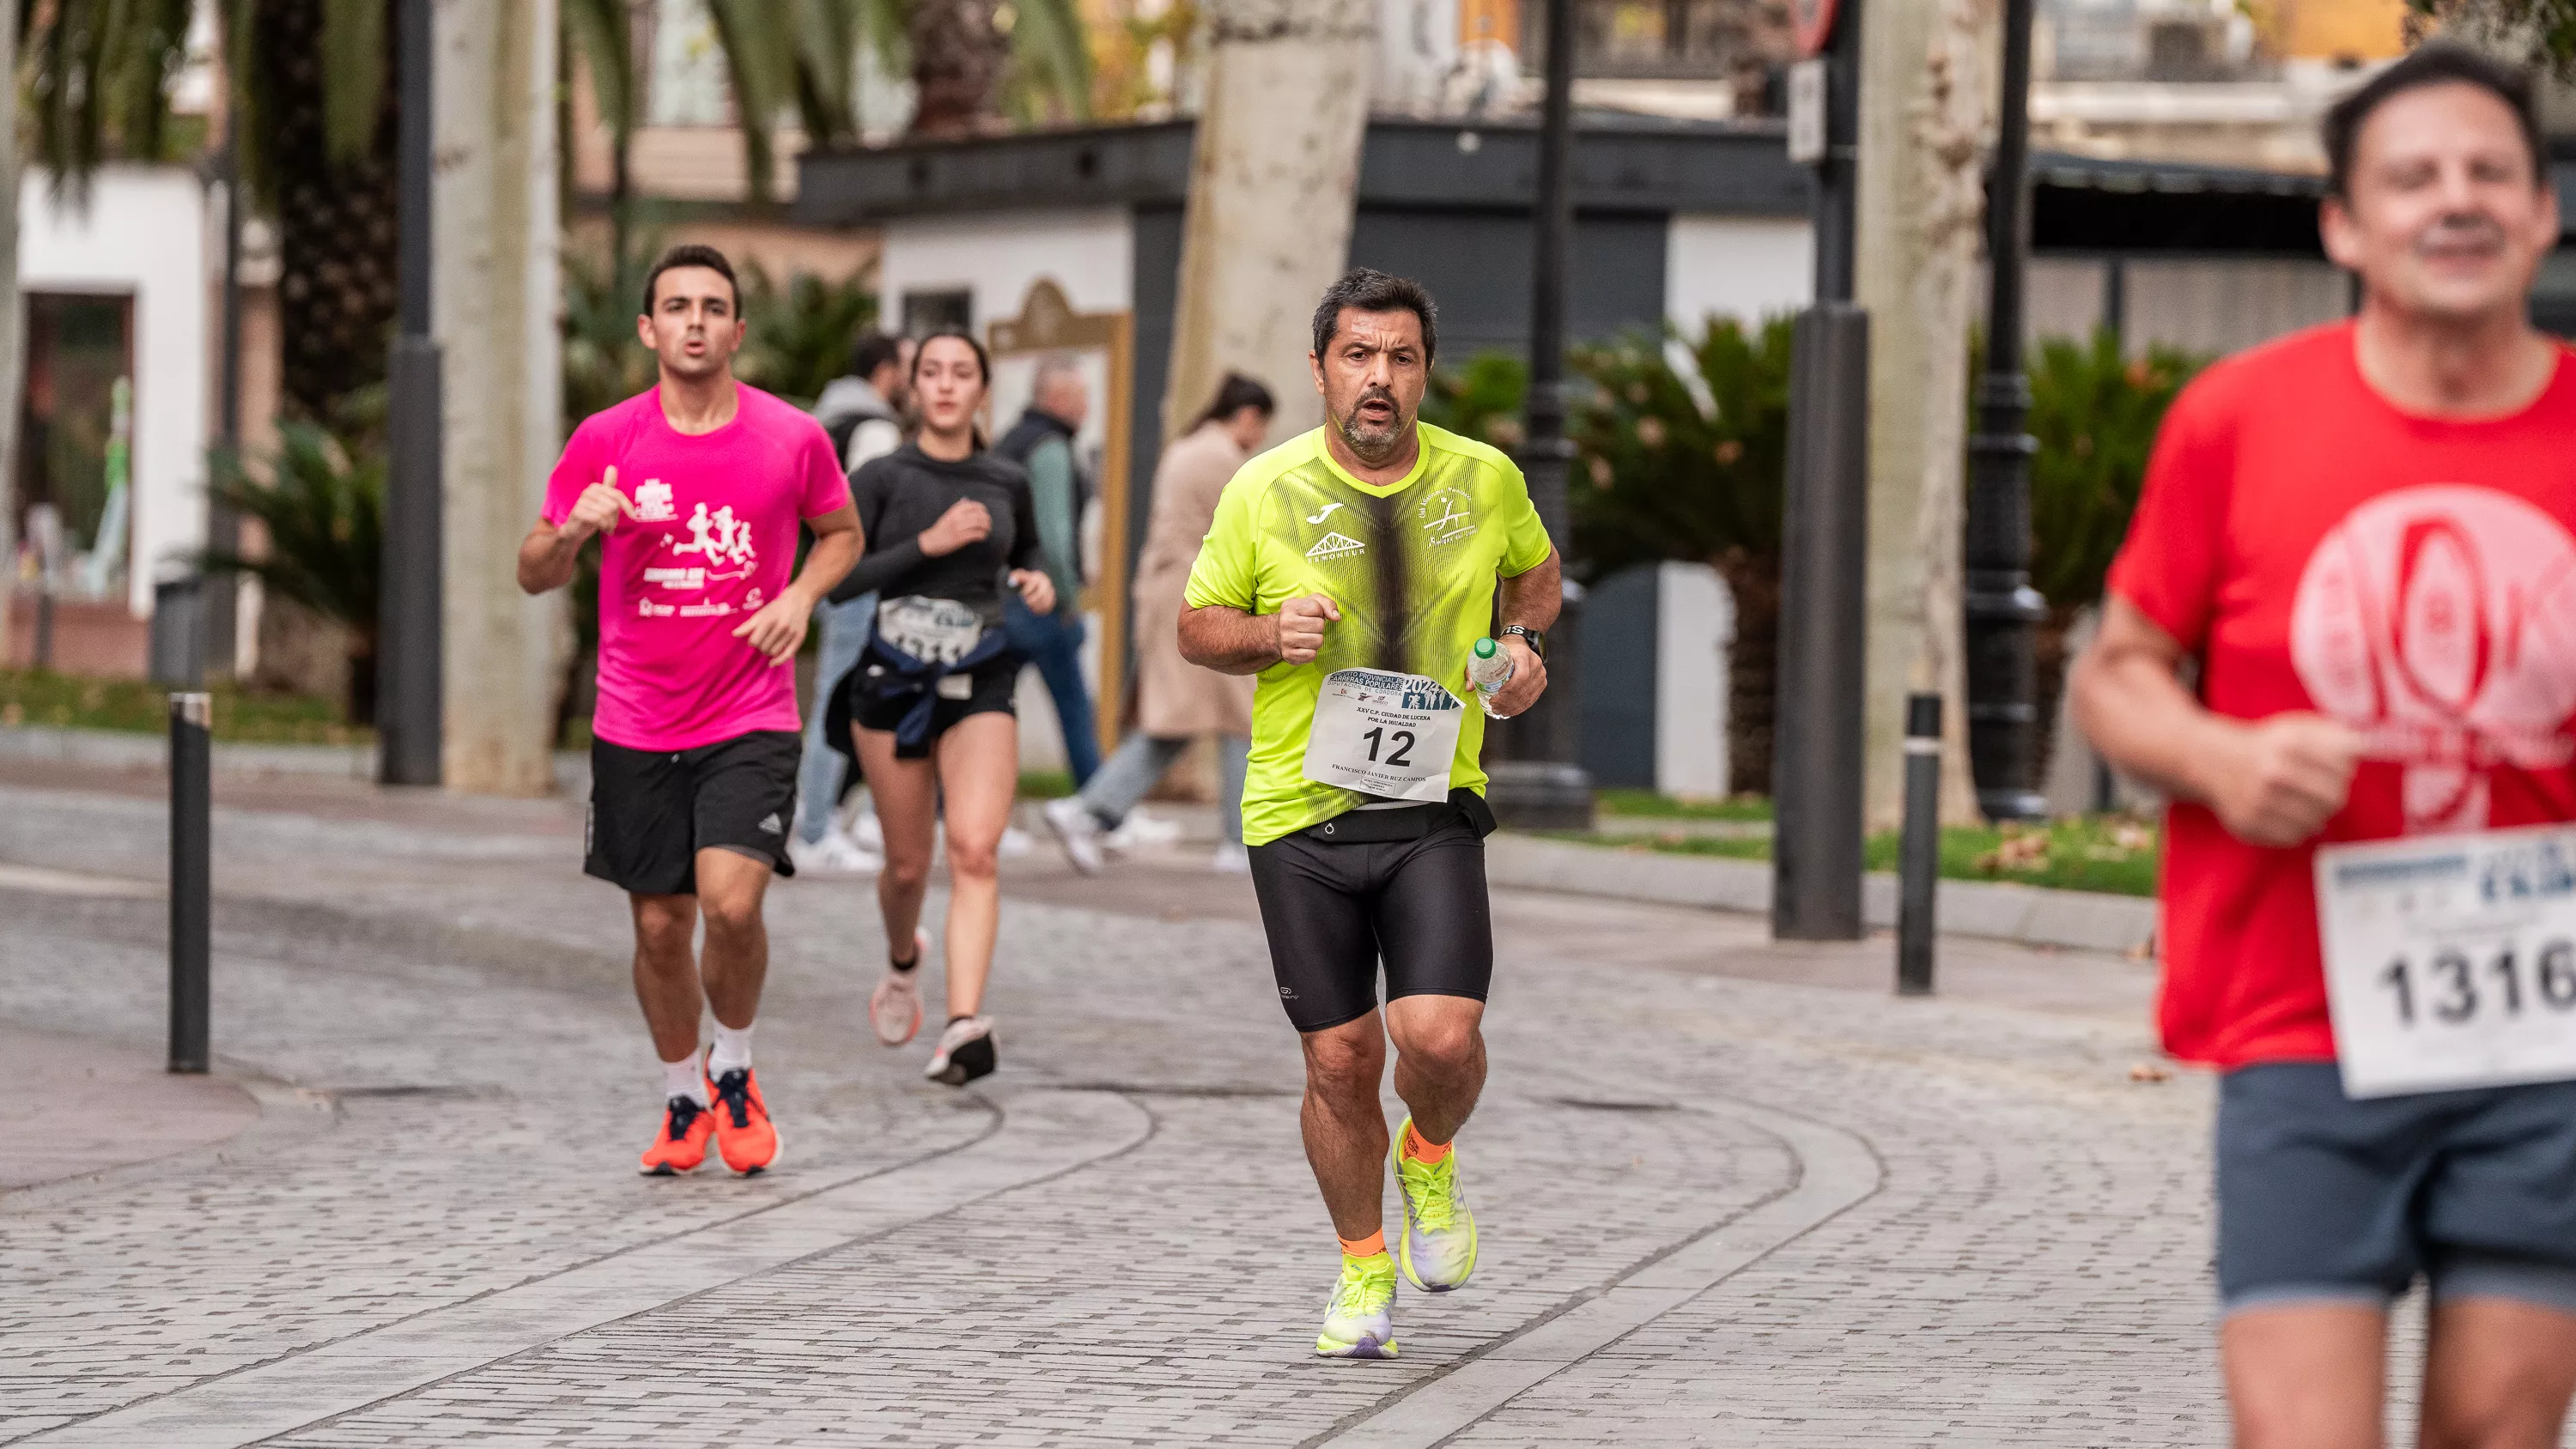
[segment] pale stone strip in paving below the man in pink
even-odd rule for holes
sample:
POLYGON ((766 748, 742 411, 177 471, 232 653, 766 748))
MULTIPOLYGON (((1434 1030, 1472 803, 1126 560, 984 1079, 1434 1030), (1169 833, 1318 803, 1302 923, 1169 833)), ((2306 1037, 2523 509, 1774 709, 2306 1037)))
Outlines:
POLYGON ((234 1449, 636 1313, 848 1248, 1144 1143, 1149 1112, 1100 1091, 1010 1094, 974 1143, 544 1279, 353 1333, 23 1444, 234 1449))

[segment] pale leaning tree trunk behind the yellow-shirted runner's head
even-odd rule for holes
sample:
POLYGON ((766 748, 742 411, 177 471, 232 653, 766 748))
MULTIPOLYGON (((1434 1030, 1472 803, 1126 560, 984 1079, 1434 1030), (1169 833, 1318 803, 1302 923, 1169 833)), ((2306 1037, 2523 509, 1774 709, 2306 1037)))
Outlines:
POLYGON ((1314 304, 1350 255, 1373 18, 1370 0, 1208 5, 1164 438, 1229 371, 1270 386, 1280 435, 1321 422, 1301 358, 1314 304))

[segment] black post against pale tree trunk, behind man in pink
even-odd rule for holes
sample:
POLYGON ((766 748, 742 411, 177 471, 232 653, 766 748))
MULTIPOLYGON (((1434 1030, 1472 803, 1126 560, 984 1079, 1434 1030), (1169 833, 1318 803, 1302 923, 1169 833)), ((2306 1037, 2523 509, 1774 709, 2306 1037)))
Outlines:
POLYGON ((402 329, 386 365, 384 595, 376 620, 376 780, 438 785, 440 669, 440 360, 430 340, 430 3, 402 0, 394 57, 402 85, 402 329))

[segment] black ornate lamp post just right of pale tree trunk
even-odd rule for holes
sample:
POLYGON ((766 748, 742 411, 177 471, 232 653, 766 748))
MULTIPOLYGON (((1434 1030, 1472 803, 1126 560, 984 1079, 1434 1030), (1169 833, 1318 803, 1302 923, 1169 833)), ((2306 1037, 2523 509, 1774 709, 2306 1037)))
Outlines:
POLYGON ((2048 602, 2030 587, 2030 378, 2022 376, 2022 255, 2030 196, 2030 10, 2004 0, 2004 113, 1986 193, 1986 376, 1968 438, 1968 767, 1989 821, 2048 813, 2032 790, 2040 708, 2030 643, 2048 602))

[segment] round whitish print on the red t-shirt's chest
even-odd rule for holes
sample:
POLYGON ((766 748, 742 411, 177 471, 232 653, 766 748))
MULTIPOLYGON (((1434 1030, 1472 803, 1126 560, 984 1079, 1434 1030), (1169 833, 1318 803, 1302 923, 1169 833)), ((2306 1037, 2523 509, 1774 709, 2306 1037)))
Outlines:
POLYGON ((2576 540, 2530 502, 2414 486, 2308 556, 2290 659, 2318 710, 2401 767, 2406 831, 2488 821, 2488 772, 2576 757, 2576 540))

